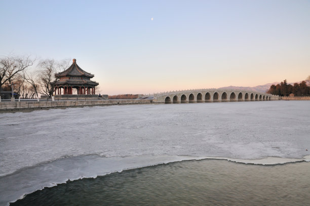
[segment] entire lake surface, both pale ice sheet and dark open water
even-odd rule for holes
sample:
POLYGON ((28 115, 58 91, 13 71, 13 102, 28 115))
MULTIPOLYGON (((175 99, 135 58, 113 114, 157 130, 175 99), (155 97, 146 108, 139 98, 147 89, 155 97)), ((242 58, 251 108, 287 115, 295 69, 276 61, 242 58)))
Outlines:
POLYGON ((0 205, 304 205, 309 125, 310 101, 0 114, 0 205))

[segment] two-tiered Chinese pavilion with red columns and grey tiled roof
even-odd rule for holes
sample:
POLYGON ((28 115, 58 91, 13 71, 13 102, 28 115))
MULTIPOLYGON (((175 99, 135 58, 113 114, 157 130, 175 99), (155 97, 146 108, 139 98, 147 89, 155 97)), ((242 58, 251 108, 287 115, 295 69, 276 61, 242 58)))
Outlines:
POLYGON ((78 95, 95 95, 95 87, 99 84, 90 80, 94 75, 82 70, 76 59, 67 70, 57 73, 55 77, 59 78, 54 87, 55 95, 72 95, 73 89, 78 95))

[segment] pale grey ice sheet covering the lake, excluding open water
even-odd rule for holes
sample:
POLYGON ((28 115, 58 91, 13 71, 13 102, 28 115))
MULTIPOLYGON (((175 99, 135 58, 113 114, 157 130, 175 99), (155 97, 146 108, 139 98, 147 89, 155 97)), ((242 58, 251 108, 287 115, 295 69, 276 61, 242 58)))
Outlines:
POLYGON ((210 157, 255 163, 308 161, 309 125, 310 101, 0 114, 0 204, 68 179, 163 162, 210 157))

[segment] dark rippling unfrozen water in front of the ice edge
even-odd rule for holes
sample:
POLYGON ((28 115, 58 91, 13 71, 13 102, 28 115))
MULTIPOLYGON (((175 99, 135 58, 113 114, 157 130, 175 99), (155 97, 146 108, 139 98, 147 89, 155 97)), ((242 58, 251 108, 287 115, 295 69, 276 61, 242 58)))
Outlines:
POLYGON ((191 160, 80 179, 11 205, 309 205, 310 162, 191 160))

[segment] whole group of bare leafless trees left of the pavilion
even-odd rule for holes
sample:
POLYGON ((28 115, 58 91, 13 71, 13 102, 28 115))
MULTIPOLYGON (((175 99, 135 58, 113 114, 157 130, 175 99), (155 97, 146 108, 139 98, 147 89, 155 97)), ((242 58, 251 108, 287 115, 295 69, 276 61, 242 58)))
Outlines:
POLYGON ((64 71, 69 59, 36 59, 30 56, 5 56, 0 58, 0 89, 11 91, 21 98, 34 98, 38 94, 52 96, 56 73, 64 71))

